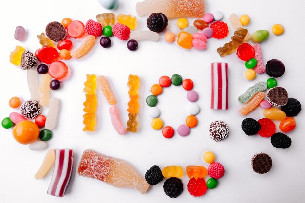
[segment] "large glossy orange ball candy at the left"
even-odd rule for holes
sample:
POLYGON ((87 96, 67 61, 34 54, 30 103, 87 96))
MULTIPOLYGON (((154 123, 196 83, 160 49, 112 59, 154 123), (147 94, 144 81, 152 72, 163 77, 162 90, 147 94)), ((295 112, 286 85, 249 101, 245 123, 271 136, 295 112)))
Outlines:
POLYGON ((23 145, 36 141, 39 137, 39 128, 32 121, 21 121, 13 129, 15 140, 23 145))

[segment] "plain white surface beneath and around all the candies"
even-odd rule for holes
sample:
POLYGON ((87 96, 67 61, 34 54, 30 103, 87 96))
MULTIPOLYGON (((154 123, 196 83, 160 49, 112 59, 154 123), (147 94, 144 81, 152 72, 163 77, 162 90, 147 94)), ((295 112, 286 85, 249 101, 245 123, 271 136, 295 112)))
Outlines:
MULTIPOLYGON (((121 0, 116 14, 136 15, 137 0, 121 0)), ((264 62, 280 59, 286 66, 285 74, 278 79, 279 86, 286 88, 290 97, 297 98, 305 105, 304 94, 304 25, 305 18, 303 0, 207 0, 206 11, 221 10, 224 21, 229 24, 229 15, 239 16, 246 13, 251 17, 247 26, 249 32, 267 29, 275 23, 285 27, 282 36, 270 33, 267 41, 261 44, 264 62)), ((12 96, 29 99, 26 72, 9 63, 10 51, 16 45, 21 45, 31 52, 40 47, 36 35, 44 32, 47 23, 61 21, 62 18, 72 18, 86 22, 95 19, 95 15, 108 12, 96 0, 52 0, 52 1, 4 1, 0 6, 1 16, 1 49, 0 49, 0 83, 1 118, 10 112, 17 111, 8 106, 12 96), (15 27, 22 25, 27 30, 24 42, 14 39, 15 27)), ((146 18, 138 17, 138 30, 146 30, 146 18)), ((194 19, 189 19, 190 24, 194 19)), ((139 49, 131 52, 126 48, 126 41, 112 37, 110 49, 103 49, 96 40, 95 46, 88 55, 79 60, 70 60, 66 64, 71 68, 71 78, 62 84, 59 91, 52 96, 61 100, 61 111, 57 128, 44 151, 30 151, 28 146, 17 143, 12 137, 12 129, 0 128, 0 202, 43 202, 43 203, 154 203, 154 202, 211 202, 214 203, 300 203, 305 202, 305 150, 304 150, 304 112, 296 117, 297 128, 289 133, 292 146, 289 149, 274 148, 269 138, 247 136, 240 125, 245 118, 238 114, 241 104, 237 97, 255 82, 266 81, 267 74, 258 75, 254 81, 244 78, 246 68, 244 63, 234 54, 224 58, 219 57, 216 49, 228 42, 233 34, 229 25, 229 35, 223 40, 209 39, 208 48, 204 51, 182 50, 175 43, 167 44, 160 36, 159 42, 141 41, 139 49), (210 63, 214 61, 229 64, 229 110, 210 110, 210 63), (136 134, 118 135, 110 123, 109 105, 101 92, 99 95, 98 124, 94 134, 82 131, 83 102, 82 91, 86 74, 105 75, 115 92, 121 118, 126 123, 127 80, 129 74, 137 74, 141 78, 140 88, 140 130, 136 134), (172 139, 165 139, 161 131, 151 128, 145 103, 150 94, 150 87, 157 83, 162 75, 180 74, 183 78, 191 78, 194 90, 199 93, 197 104, 201 108, 198 114, 198 126, 191 129, 188 137, 180 137, 177 133, 172 139), (229 137, 216 143, 210 139, 208 127, 214 120, 225 121, 230 128, 229 137), (42 180, 35 180, 45 153, 51 148, 71 148, 74 150, 74 166, 70 184, 63 198, 46 194, 51 179, 51 173, 42 180), (205 150, 212 150, 217 162, 224 165, 225 176, 219 180, 214 190, 209 190, 203 197, 192 197, 187 191, 188 177, 183 177, 184 192, 177 199, 170 199, 163 192, 163 182, 141 195, 136 190, 115 188, 100 181, 77 175, 77 165, 85 149, 94 149, 109 156, 124 159, 135 166, 141 174, 152 165, 161 168, 171 165, 208 166, 202 160, 205 150), (273 167, 265 175, 252 171, 250 159, 257 152, 266 152, 272 157, 273 167)), ((76 46, 81 40, 74 40, 76 46), (78 41, 78 42, 76 42, 78 41)), ((75 47, 76 47, 75 46, 75 47)), ((157 107, 162 111, 161 118, 165 125, 174 129, 185 122, 188 113, 186 91, 182 87, 164 89, 159 96, 157 107)), ((248 117, 260 119, 263 109, 259 107, 248 117)), ((43 114, 47 114, 44 109, 43 114)), ((277 130, 279 122, 276 122, 277 130)), ((207 180, 207 178, 206 178, 207 180)))

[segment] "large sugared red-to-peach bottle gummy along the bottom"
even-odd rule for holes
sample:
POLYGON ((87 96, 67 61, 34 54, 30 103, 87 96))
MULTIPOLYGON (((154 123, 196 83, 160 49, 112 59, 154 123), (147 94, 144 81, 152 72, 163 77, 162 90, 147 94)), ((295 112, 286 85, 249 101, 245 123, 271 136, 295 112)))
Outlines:
POLYGON ((94 178, 114 187, 136 189, 145 194, 149 184, 129 163, 92 150, 85 150, 78 165, 78 175, 94 178))

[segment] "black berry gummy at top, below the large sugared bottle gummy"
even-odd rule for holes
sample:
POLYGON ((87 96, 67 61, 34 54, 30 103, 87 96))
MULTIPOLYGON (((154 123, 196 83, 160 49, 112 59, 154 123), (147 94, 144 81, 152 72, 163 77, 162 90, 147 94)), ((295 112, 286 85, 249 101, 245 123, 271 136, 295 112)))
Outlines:
POLYGON ((152 13, 146 20, 148 29, 157 33, 165 30, 167 22, 167 17, 163 13, 152 13))

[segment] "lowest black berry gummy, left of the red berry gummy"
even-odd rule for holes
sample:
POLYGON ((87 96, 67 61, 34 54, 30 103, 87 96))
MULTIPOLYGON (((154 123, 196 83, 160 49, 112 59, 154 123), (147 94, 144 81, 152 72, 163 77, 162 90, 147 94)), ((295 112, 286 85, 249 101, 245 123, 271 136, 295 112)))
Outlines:
POLYGON ((166 179, 163 190, 170 198, 176 198, 183 192, 183 184, 179 178, 166 179))

